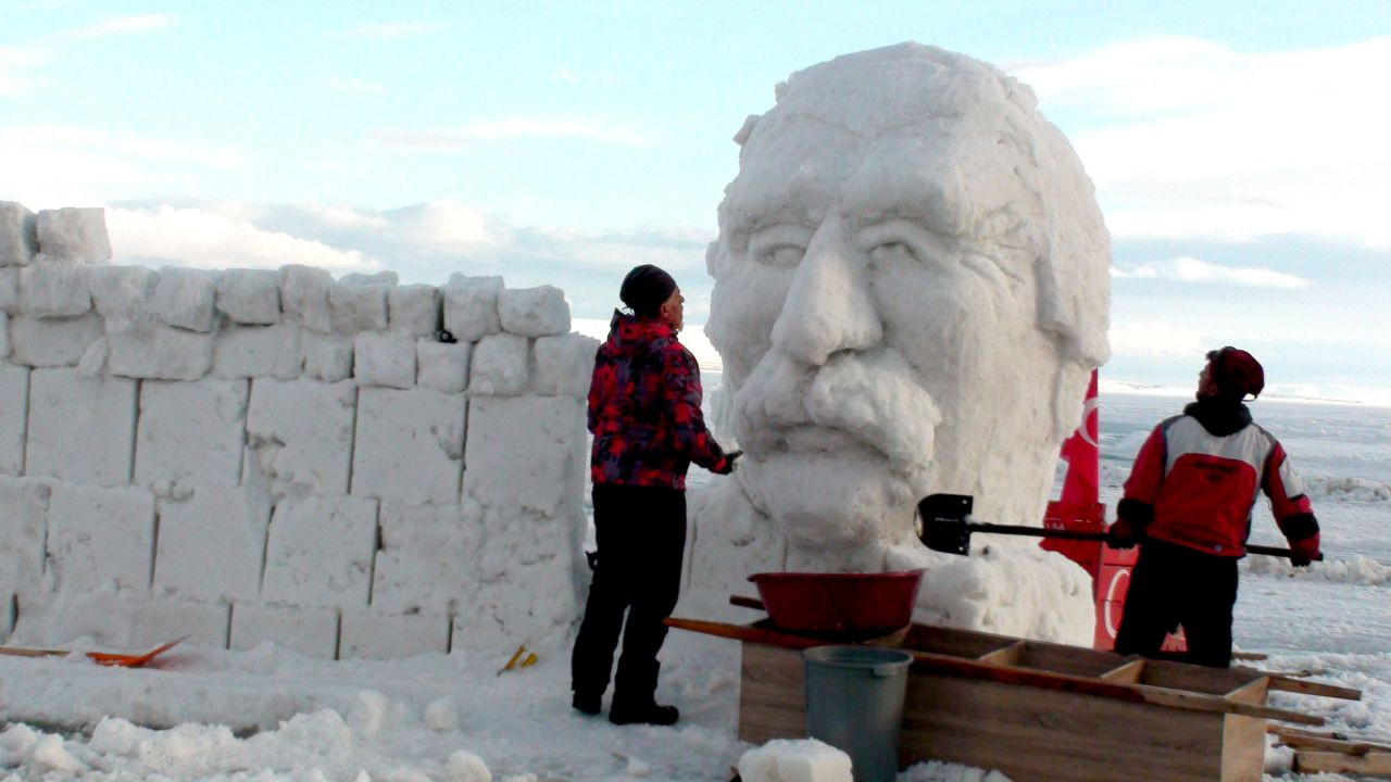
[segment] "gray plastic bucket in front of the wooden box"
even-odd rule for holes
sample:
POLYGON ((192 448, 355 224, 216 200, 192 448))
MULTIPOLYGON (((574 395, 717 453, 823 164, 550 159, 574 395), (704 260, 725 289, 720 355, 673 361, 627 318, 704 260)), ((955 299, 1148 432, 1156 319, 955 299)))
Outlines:
POLYGON ((818 646, 807 661, 807 736, 850 756, 855 782, 893 782, 912 655, 872 646, 818 646))

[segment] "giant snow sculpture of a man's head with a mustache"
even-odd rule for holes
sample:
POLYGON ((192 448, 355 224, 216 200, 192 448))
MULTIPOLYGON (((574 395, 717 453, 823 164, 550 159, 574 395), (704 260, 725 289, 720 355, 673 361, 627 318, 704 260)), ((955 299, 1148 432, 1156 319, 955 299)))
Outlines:
POLYGON ((901 543, 932 491, 1038 523, 1110 239, 1032 92, 900 45, 794 74, 736 141, 707 334, 754 505, 804 551, 901 543))

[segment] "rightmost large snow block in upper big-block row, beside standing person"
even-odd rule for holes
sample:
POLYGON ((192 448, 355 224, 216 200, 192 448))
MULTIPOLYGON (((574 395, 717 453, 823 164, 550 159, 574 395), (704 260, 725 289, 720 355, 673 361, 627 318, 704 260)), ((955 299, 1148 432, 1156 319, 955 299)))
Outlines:
POLYGON ((473 398, 463 491, 484 509, 568 515, 588 465, 584 405, 566 397, 473 398))

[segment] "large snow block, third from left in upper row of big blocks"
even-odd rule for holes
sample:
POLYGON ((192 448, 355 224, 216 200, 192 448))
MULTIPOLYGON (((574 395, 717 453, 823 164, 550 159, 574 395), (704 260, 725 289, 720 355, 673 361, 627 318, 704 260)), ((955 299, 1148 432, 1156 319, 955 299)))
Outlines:
POLYGON ((135 483, 161 495, 238 486, 249 385, 245 380, 211 378, 143 383, 135 483))

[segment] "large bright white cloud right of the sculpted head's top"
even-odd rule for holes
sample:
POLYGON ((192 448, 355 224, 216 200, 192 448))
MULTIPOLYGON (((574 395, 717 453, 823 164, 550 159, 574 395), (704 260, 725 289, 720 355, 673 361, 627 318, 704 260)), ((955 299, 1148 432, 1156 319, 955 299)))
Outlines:
POLYGON ((1391 38, 1273 53, 1161 38, 1015 72, 1070 120, 1117 237, 1391 245, 1391 38))

